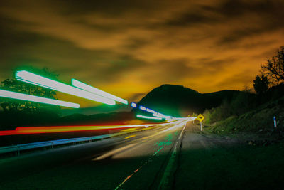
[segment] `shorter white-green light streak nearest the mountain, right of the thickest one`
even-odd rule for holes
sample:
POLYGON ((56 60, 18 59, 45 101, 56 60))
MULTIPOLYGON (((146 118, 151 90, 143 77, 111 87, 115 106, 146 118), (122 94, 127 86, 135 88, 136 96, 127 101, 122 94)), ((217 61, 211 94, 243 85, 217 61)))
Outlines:
POLYGON ((111 100, 115 100, 117 102, 121 102, 125 105, 128 105, 129 102, 127 102, 127 100, 124 100, 120 97, 117 97, 115 95, 111 95, 110 93, 104 92, 103 90, 99 90, 98 88, 94 88, 93 86, 87 85, 85 83, 80 82, 79 80, 76 80, 74 78, 72 78, 72 85, 77 87, 77 88, 81 88, 82 90, 86 90, 90 93, 94 93, 96 95, 101 95, 102 97, 107 97, 111 100))

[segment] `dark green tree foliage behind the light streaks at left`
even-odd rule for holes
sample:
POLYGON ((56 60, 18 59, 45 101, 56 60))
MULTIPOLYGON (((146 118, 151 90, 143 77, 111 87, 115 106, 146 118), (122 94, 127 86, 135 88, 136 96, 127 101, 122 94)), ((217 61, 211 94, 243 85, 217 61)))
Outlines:
MULTIPOLYGON (((57 75, 50 73, 46 68, 39 70, 37 73, 49 77, 53 76, 53 78, 57 77, 57 75)), ((55 90, 23 83, 16 79, 6 79, 2 81, 0 88, 16 93, 56 99, 55 90)), ((13 130, 18 126, 47 125, 50 122, 58 120, 58 114, 60 112, 59 106, 14 100, 4 97, 0 97, 0 107, 1 130, 13 130)))

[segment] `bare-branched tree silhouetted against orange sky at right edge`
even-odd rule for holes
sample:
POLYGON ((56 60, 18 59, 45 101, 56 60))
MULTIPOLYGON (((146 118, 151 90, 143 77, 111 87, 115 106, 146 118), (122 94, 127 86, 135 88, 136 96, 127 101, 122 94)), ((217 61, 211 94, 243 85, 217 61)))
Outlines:
POLYGON ((284 81, 284 46, 277 51, 277 55, 267 59, 266 63, 261 64, 263 73, 271 80, 271 83, 278 85, 284 81))

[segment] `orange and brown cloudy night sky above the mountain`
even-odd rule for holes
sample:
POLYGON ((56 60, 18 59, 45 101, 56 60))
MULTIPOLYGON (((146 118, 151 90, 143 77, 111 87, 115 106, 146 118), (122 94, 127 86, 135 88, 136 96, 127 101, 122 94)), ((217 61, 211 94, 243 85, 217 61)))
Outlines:
POLYGON ((283 0, 2 0, 0 80, 31 65, 129 101, 165 83, 241 90, 284 45, 283 10, 283 0))

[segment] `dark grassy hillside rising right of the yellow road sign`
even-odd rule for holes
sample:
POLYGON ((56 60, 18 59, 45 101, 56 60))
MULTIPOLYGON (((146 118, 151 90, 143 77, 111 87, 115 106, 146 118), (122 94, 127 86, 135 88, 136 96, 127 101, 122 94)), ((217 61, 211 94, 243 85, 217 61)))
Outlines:
POLYGON ((227 107, 223 105, 207 110, 204 112, 204 123, 211 126, 212 132, 217 133, 258 132, 266 134, 276 130, 283 136, 283 107, 284 84, 280 84, 269 88, 268 92, 262 95, 257 95, 254 100, 238 103, 237 106, 231 102, 227 107), (253 102, 255 105, 249 109, 239 112, 239 114, 236 112, 248 104, 253 105, 253 102), (277 128, 275 129, 273 117, 277 120, 277 128))

